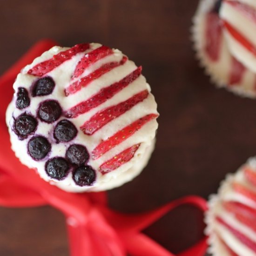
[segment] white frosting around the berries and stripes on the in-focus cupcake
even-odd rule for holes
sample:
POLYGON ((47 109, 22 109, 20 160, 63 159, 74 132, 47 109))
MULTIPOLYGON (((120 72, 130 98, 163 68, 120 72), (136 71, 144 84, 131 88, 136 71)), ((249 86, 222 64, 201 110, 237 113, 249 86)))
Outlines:
MULTIPOLYGON (((92 43, 90 44, 90 48, 85 52, 76 54, 72 57, 72 59, 65 61, 59 67, 50 71, 46 74, 46 76, 50 76, 55 81, 55 88, 52 94, 47 96, 36 96, 32 97, 31 95, 31 86, 34 81, 38 80, 39 77, 27 74, 27 71, 34 67, 36 64, 51 59, 53 55, 60 53, 61 51, 65 51, 68 47, 53 47, 49 51, 42 54, 40 57, 36 58, 32 64, 23 68, 21 73, 17 76, 15 83, 13 84, 14 88, 14 97, 13 101, 10 103, 7 109, 7 125, 9 127, 9 133, 12 142, 12 149, 15 152, 16 156, 20 159, 20 162, 27 165, 29 168, 36 168, 39 172, 40 176, 46 180, 51 182, 52 184, 60 187, 61 189, 70 191, 70 192, 83 192, 83 191, 101 191, 105 189, 112 189, 114 187, 120 186, 125 182, 132 180, 136 175, 138 175, 141 170, 146 166, 148 159, 153 151, 155 144, 155 131, 157 129, 157 122, 155 119, 148 121, 145 125, 142 126, 138 131, 136 131, 132 136, 130 136, 127 140, 122 141, 120 144, 110 149, 104 155, 99 157, 96 160, 93 160, 91 157, 92 150, 103 140, 108 139, 116 132, 118 132, 121 128, 126 127, 133 121, 148 115, 148 114, 158 114, 156 110, 156 103, 154 96, 150 93, 150 87, 146 82, 146 79, 143 75, 140 75, 135 81, 131 82, 126 88, 123 88, 120 92, 115 94, 112 98, 105 101, 101 105, 96 108, 91 109, 90 111, 77 116, 76 118, 68 119, 71 121, 78 130, 78 135, 69 142, 60 142, 56 143, 53 137, 53 130, 57 122, 62 119, 67 119, 64 116, 61 116, 60 119, 55 121, 53 124, 48 124, 46 122, 39 121, 38 127, 35 131, 35 135, 43 135, 47 138, 47 140, 51 143, 52 148, 49 155, 46 158, 35 161, 30 155, 27 153, 27 143, 31 136, 28 136, 25 140, 20 140, 18 136, 13 132, 13 124, 14 119, 19 115, 27 112, 30 115, 36 117, 37 109, 40 102, 45 101, 47 99, 57 100, 63 111, 77 105, 81 101, 86 101, 92 95, 98 93, 101 88, 106 88, 109 85, 120 81, 122 78, 130 74, 132 71, 136 69, 136 65, 133 61, 126 61, 125 64, 115 67, 111 71, 106 74, 101 75, 98 79, 95 79, 88 86, 82 88, 79 92, 75 94, 71 94, 69 96, 65 96, 64 88, 71 83, 70 78, 74 71, 74 68, 81 57, 100 47, 100 44, 92 43), (16 93, 19 87, 27 88, 30 97, 30 106, 24 109, 18 109, 15 107, 16 101, 16 93), (107 125, 103 126, 93 135, 85 135, 81 130, 80 126, 88 121, 93 115, 98 113, 99 111, 108 108, 110 106, 116 105, 122 101, 126 101, 133 95, 143 91, 148 90, 149 95, 146 99, 136 104, 133 108, 129 109, 123 115, 115 118, 113 121, 110 121, 107 125), (98 171, 99 167, 102 163, 108 161, 113 158, 115 155, 121 153, 123 150, 135 145, 139 144, 140 147, 135 152, 134 157, 132 157, 128 162, 121 165, 119 168, 102 175, 101 172, 98 171), (80 187, 75 184, 72 173, 70 172, 64 180, 57 181, 51 179, 45 172, 45 163, 49 158, 55 156, 65 157, 66 150, 71 144, 82 144, 84 145, 90 155, 88 165, 94 168, 96 171, 96 181, 92 186, 84 186, 80 187)), ((94 70, 98 69, 102 65, 109 62, 119 62, 123 58, 123 54, 119 50, 113 50, 114 53, 110 54, 99 61, 96 61, 94 64, 85 69, 84 73, 81 74, 76 80, 81 79, 85 75, 92 73, 94 70)), ((76 81, 74 80, 74 81, 76 81)), ((72 82, 74 82, 72 81, 72 82)))

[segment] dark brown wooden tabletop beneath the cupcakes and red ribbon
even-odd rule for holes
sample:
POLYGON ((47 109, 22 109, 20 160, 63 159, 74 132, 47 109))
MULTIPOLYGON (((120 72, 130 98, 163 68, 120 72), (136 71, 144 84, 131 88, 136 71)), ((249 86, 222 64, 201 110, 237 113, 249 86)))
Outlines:
MULTIPOLYGON (((108 192, 123 212, 188 194, 215 193, 226 173, 256 152, 256 103, 216 89, 190 41, 197 0, 8 0, 0 2, 0 74, 41 38, 63 46, 101 42, 143 66, 158 102, 155 152, 142 174, 108 192)), ((146 230, 173 252, 202 235, 189 207, 146 230)), ((50 207, 0 208, 0 255, 68 256, 64 217, 50 207)))

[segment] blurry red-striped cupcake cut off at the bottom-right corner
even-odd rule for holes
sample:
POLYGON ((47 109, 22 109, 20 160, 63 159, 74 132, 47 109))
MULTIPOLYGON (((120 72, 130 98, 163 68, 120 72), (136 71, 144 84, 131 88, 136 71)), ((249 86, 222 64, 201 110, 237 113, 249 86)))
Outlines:
POLYGON ((256 256, 256 158, 222 182, 206 222, 213 256, 256 256))

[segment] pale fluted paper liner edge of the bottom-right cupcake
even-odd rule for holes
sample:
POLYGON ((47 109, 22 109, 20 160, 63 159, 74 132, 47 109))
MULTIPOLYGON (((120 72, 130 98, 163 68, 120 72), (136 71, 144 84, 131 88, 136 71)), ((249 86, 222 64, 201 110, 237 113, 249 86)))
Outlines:
MULTIPOLYGON (((205 223, 206 223, 206 229, 204 230, 205 235, 208 236, 207 243, 209 244, 208 253, 213 256, 226 256, 223 254, 220 254, 220 250, 225 251, 224 245, 220 242, 219 237, 216 236, 215 229, 214 229, 214 219, 216 217, 215 210, 216 207, 218 207, 218 204, 221 204, 222 195, 225 194, 225 192, 229 189, 231 189, 231 184, 234 181, 239 180, 240 182, 244 180, 243 177, 243 170, 244 167, 249 166, 251 168, 256 169, 256 157, 251 157, 247 160, 245 164, 243 164, 235 173, 227 174, 225 179, 222 180, 220 183, 220 187, 217 191, 217 194, 212 194, 209 196, 208 201, 208 210, 205 212, 205 223)), ((230 200, 232 201, 232 200, 230 200)), ((227 255, 229 255, 227 253, 227 255)))

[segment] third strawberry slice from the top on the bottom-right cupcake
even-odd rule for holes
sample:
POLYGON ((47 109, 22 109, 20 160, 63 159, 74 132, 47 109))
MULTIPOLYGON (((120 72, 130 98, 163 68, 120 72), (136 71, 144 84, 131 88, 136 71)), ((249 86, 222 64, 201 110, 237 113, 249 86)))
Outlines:
POLYGON ((256 231, 256 209, 240 202, 223 202, 223 207, 234 214, 239 222, 256 231))

